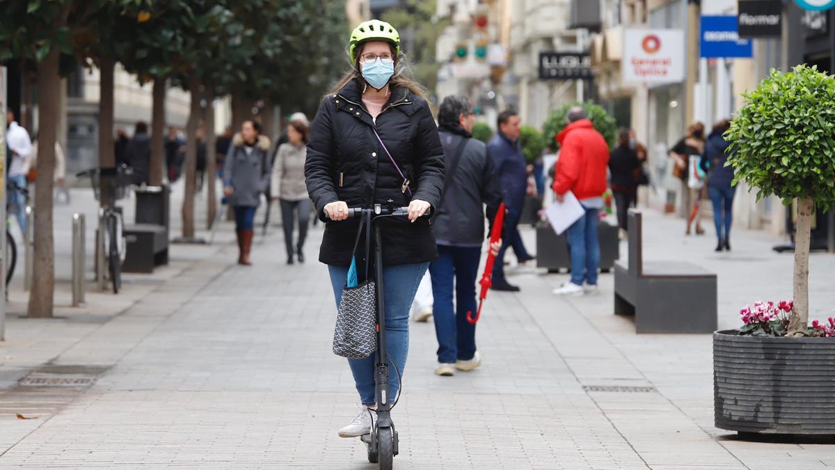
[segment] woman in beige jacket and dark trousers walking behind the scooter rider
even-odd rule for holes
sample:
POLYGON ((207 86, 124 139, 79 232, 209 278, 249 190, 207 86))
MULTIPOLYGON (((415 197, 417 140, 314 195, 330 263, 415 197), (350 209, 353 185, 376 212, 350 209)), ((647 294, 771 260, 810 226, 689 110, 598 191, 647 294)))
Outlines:
POLYGON ((287 141, 278 147, 278 155, 272 166, 271 191, 281 204, 281 225, 284 228, 284 245, 287 264, 296 255, 299 263, 305 262, 305 238, 310 223, 311 200, 305 184, 305 160, 307 158, 308 128, 303 120, 291 120, 287 125, 287 141), (293 229, 299 221, 299 238, 294 248, 293 229))

